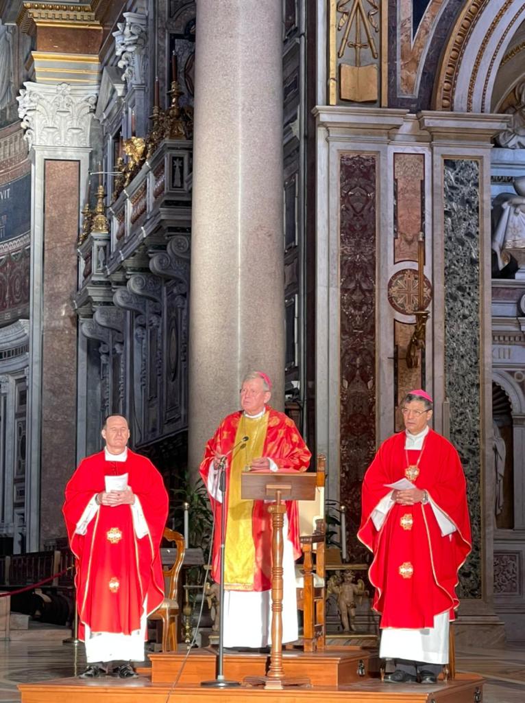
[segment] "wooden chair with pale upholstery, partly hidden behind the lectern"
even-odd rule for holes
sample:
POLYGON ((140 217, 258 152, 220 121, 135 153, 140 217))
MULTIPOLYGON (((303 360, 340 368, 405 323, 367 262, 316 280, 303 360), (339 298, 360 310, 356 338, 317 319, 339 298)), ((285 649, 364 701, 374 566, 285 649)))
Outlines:
POLYGON ((297 606, 303 611, 303 649, 305 652, 323 650, 326 640, 325 569, 324 569, 324 482, 326 477, 326 457, 317 458, 317 498, 316 501, 299 503, 300 532, 307 529, 305 512, 310 516, 311 534, 302 534, 300 543, 304 560, 298 565, 296 574, 297 606), (301 526, 301 522, 303 522, 301 526))

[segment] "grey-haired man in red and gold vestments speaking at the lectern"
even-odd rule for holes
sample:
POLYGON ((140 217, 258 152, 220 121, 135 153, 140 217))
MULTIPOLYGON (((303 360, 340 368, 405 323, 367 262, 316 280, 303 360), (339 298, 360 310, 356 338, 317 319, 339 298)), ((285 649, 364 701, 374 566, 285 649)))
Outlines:
MULTIPOLYGON (((206 444, 200 472, 210 494, 215 524, 226 508, 225 647, 270 644, 272 525, 269 503, 241 500, 241 474, 250 471, 305 471, 310 451, 293 420, 268 406, 270 378, 246 375, 242 411, 228 415, 206 444), (246 441, 244 437, 248 437, 246 441), (219 487, 218 465, 226 458, 226 491, 219 487)), ((297 504, 286 501, 284 520, 283 642, 298 638, 294 560, 300 555, 297 504)), ((220 527, 213 539, 213 579, 220 580, 220 527)))

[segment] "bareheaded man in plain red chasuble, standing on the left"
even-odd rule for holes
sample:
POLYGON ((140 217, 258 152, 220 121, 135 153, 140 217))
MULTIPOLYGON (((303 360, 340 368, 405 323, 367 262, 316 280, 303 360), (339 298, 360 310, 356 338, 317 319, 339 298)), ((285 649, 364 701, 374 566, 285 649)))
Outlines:
POLYGON ((88 662, 81 677, 105 676, 113 662, 114 673, 129 678, 131 662, 144 659, 147 616, 164 598, 168 494, 149 459, 128 449, 126 418, 110 415, 102 437, 105 449, 81 461, 63 507, 88 662))

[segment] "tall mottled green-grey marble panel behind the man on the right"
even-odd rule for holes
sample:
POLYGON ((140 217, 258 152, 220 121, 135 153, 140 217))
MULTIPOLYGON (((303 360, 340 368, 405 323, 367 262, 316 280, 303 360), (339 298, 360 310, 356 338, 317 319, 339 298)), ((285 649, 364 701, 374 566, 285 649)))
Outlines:
POLYGON ((472 525, 472 552, 460 572, 463 598, 481 598, 479 187, 478 161, 444 160, 445 395, 472 525))

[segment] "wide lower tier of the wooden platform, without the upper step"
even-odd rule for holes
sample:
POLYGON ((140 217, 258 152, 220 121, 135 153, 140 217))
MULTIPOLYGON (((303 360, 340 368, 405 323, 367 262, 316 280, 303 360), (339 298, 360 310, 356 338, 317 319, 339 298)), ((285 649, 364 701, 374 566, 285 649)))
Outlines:
POLYGON ((463 674, 452 683, 434 685, 395 685, 378 679, 345 686, 267 691, 257 688, 206 689, 198 685, 151 683, 140 676, 132 681, 106 678, 84 681, 63 678, 58 681, 20 684, 22 703, 477 703, 482 701, 483 678, 463 674))

